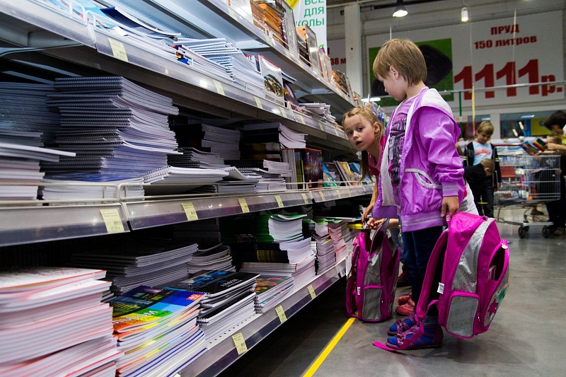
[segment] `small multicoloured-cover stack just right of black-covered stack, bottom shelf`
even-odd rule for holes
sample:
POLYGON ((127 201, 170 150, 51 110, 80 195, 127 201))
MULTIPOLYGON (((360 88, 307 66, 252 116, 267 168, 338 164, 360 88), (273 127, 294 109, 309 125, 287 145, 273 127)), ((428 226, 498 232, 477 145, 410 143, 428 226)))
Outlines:
POLYGON ((293 292, 293 277, 262 274, 255 281, 256 313, 270 311, 293 292))

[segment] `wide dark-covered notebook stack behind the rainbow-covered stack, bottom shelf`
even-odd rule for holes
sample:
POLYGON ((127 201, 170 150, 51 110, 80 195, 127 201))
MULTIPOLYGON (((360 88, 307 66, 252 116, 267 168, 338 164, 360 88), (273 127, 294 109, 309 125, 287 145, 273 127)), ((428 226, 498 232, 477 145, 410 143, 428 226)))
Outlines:
POLYGON ((71 265, 100 268, 112 279, 115 295, 141 284, 160 286, 187 277, 187 262, 197 253, 196 243, 178 240, 129 240, 110 248, 74 253, 71 265))

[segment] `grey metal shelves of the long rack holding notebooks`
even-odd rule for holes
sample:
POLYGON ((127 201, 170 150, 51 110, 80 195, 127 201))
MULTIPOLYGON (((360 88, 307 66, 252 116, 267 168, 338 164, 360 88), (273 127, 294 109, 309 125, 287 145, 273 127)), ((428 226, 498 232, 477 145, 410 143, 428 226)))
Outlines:
MULTIPOLYGON (((107 1, 130 6, 169 28, 200 37, 226 37, 242 50, 259 52, 293 76, 303 98, 331 105, 334 113, 354 106, 332 83, 314 73, 308 64, 260 32, 246 18, 219 0, 123 0, 107 1)), ((308 134, 309 146, 337 151, 350 148, 344 134, 329 122, 308 117, 249 93, 236 84, 211 76, 175 59, 163 57, 154 48, 108 30, 96 28, 71 13, 42 1, 0 0, 0 57, 18 60, 37 69, 54 66, 63 74, 113 74, 124 76, 153 91, 173 98, 180 108, 224 120, 280 122, 308 134), (112 44, 122 45, 117 54, 112 44), (127 57, 124 59, 124 57, 127 57), (219 107, 221 103, 221 107, 219 107)), ((49 71, 49 69, 47 69, 49 71)), ((127 233, 185 221, 232 216, 250 211, 298 207, 371 194, 366 185, 332 187, 316 191, 273 192, 260 195, 216 195, 120 198, 85 203, 0 203, 0 247, 43 243, 67 238, 108 234, 104 211, 114 215, 115 226, 127 233), (243 206, 242 201, 246 204, 243 206), (191 212, 186 211, 190 203, 191 212), (185 207, 184 207, 185 205, 185 207), (120 228, 120 226, 118 226, 120 228)), ((110 232, 113 233, 114 231, 110 232)), ((289 318, 343 276, 345 262, 319 274, 282 301, 289 318)), ((275 311, 255 315, 209 344, 209 351, 191 364, 182 376, 210 376, 238 359, 231 335, 241 332, 249 348, 281 325, 275 311)))

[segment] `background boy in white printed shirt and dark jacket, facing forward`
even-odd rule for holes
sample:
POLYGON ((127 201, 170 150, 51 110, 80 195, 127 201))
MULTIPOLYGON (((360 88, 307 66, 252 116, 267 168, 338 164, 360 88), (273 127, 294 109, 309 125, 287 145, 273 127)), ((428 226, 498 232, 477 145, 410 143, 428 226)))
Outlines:
MULTIPOLYGON (((495 175, 485 180, 485 185, 481 191, 482 204, 478 207, 480 215, 493 217, 493 196, 495 190, 501 186, 501 169, 499 168, 499 156, 497 148, 490 143, 493 135, 493 124, 491 122, 481 122, 478 126, 477 137, 474 141, 466 144, 464 152, 464 166, 478 165, 484 158, 490 158, 495 162, 495 175)), ((476 204, 479 198, 475 197, 476 204)))

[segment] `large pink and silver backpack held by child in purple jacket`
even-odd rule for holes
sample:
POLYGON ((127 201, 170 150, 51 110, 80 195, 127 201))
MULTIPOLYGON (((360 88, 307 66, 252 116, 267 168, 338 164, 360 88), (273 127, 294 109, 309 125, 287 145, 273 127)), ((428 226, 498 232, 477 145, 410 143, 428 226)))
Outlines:
MULTIPOLYGON (((456 212, 449 221, 429 259, 416 317, 422 322, 430 306, 436 304, 439 325, 456 337, 470 338, 490 328, 509 285, 509 248, 495 226, 495 219, 456 212), (434 283, 437 268, 441 281, 434 283), (432 289, 438 300, 430 301, 432 289)), ((424 328, 406 339, 397 350, 415 342, 424 328), (411 342, 412 340, 412 342, 411 342)), ((374 345, 389 349, 379 342, 374 345)))

